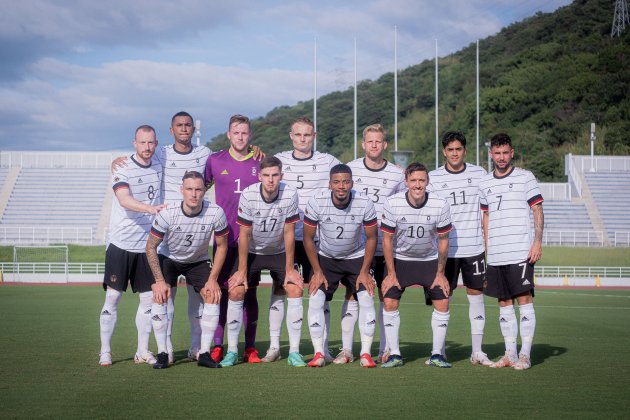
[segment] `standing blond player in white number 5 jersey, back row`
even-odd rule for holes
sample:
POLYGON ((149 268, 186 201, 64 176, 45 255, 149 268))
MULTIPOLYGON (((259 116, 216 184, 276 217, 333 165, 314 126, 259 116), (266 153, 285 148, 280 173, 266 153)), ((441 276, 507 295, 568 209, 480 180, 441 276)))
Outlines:
MULTIPOLYGON (((313 143, 317 137, 313 121, 306 117, 300 117, 291 124, 289 137, 293 143, 293 150, 278 153, 276 157, 282 161, 283 181, 298 190, 300 199, 300 220, 295 226, 295 263, 300 268, 304 282, 308 283, 312 269, 304 251, 303 226, 304 209, 308 200, 322 188, 328 188, 330 169, 341 163, 336 157, 328 153, 313 150, 313 143)), ((317 243, 317 237, 315 238, 317 243)), ((284 316, 284 292, 275 290, 269 303, 271 313, 270 324, 275 330, 282 326, 284 316)), ((333 357, 328 351, 328 326, 330 325, 330 305, 324 304, 324 356, 331 362, 333 357)))

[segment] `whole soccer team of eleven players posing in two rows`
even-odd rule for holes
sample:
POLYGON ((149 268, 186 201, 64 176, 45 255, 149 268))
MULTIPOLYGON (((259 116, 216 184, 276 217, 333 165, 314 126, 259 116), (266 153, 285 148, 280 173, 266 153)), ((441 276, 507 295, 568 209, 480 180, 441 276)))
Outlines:
POLYGON ((285 296, 289 366, 352 362, 357 321, 360 365, 402 366, 399 303, 407 287, 418 285, 433 306, 433 346, 425 363, 449 368, 449 301, 461 273, 469 301, 471 363, 530 368, 543 198, 533 174, 512 166, 508 135, 492 137, 494 170, 488 174, 465 162, 461 132, 443 135, 445 165, 431 172, 421 163, 403 169, 384 159, 388 144, 380 124, 365 128, 365 156, 347 165, 313 150, 316 133, 307 118, 291 126, 293 150, 273 157, 250 146, 249 119, 242 115, 230 119, 230 147, 220 152, 192 144, 193 118, 186 112, 173 116, 171 133, 174 144, 158 147, 153 128, 138 127, 135 153, 112 164, 115 199, 100 314, 100 365, 112 364, 117 306, 128 284, 140 297, 135 363, 161 369, 174 362, 173 302, 183 276, 188 357, 200 366, 237 364, 243 326, 245 362, 279 360, 285 296), (216 203, 204 199, 213 184, 216 203), (261 358, 255 338, 262 270, 269 270, 273 289, 270 347, 261 358), (345 286, 342 348, 333 357, 328 350, 329 302, 340 283, 345 286), (314 353, 308 363, 300 354, 305 288, 314 353), (496 298, 500 307, 506 351, 496 362, 482 351, 484 294, 496 298), (377 323, 380 343, 374 360, 377 323), (157 357, 149 351, 151 330, 157 357))

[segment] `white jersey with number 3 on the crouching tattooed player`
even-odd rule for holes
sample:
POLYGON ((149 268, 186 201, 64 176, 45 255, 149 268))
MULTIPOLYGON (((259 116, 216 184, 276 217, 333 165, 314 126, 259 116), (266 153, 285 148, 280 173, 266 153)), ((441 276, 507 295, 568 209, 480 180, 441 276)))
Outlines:
POLYGON ((203 201, 201 211, 184 213, 183 202, 170 204, 155 217, 151 235, 163 239, 159 253, 181 263, 209 260, 208 247, 214 233, 228 234, 228 224, 221 207, 203 201))

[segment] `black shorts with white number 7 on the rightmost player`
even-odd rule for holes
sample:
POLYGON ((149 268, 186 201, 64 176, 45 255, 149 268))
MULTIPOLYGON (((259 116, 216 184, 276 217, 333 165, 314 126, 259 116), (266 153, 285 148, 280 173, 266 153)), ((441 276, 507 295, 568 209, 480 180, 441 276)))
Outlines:
POLYGON ((534 296, 534 264, 523 261, 518 264, 488 266, 483 293, 497 299, 512 299, 523 293, 534 296))

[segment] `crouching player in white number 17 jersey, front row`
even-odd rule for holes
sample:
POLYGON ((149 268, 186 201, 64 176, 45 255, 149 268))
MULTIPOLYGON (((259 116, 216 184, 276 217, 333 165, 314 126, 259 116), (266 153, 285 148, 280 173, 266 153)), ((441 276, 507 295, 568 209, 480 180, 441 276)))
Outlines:
MULTIPOLYGON (((293 265, 295 223, 299 220, 297 190, 282 180, 282 162, 270 156, 260 162, 258 178, 241 194, 238 205, 238 270, 229 281, 228 353, 222 366, 238 360, 238 336, 243 319, 243 298, 249 285, 255 285, 264 269, 271 272, 274 288, 287 294, 289 366, 306 366, 300 355, 302 335, 303 280, 293 265), (240 302, 240 303, 239 303, 240 302), (236 309, 236 310, 235 310, 236 309)), ((272 317, 270 309, 269 317, 272 317)), ((263 362, 280 359, 280 328, 270 328, 271 343, 263 362)))

